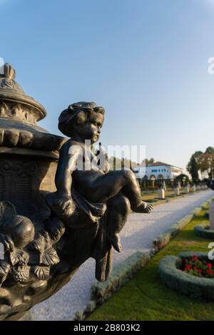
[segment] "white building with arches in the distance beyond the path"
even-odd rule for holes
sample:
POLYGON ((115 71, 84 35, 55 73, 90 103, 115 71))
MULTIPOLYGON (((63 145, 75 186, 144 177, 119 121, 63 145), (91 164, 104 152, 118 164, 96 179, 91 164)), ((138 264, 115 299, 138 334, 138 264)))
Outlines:
POLYGON ((183 173, 182 168, 173 166, 167 163, 156 162, 148 165, 138 165, 134 168, 134 173, 137 179, 148 179, 148 180, 157 180, 157 179, 174 179, 181 173, 183 173))

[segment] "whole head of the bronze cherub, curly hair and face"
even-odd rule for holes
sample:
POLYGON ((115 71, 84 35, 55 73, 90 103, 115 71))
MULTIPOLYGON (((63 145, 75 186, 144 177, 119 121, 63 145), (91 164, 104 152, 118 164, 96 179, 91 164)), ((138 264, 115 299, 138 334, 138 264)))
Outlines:
POLYGON ((79 102, 69 105, 58 118, 58 129, 68 136, 78 135, 95 143, 101 133, 105 110, 96 103, 79 102))

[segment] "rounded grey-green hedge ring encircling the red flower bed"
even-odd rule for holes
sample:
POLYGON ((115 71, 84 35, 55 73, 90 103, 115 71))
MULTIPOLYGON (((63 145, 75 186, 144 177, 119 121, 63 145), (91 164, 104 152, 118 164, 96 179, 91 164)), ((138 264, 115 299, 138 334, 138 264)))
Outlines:
POLYGON ((161 281, 170 289, 185 294, 194 299, 214 300, 214 279, 195 277, 180 271, 184 259, 190 259, 194 254, 201 260, 207 260, 205 252, 182 252, 175 256, 166 256, 159 263, 161 281))

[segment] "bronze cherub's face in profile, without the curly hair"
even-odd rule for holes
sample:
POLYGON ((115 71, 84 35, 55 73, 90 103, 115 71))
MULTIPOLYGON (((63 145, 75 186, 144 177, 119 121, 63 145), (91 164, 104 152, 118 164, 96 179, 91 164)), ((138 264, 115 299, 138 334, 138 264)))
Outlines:
POLYGON ((78 135, 80 135, 83 140, 91 140, 92 144, 96 143, 100 137, 103 122, 103 114, 91 114, 88 121, 76 127, 78 135))

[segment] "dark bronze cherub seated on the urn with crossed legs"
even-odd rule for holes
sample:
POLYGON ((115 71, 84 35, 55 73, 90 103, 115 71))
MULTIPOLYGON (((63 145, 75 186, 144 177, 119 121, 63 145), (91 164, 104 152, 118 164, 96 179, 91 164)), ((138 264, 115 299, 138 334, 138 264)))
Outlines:
POLYGON ((141 190, 131 170, 101 170, 91 163, 96 159, 91 147, 100 137, 104 113, 104 108, 96 103, 86 102, 73 103, 63 110, 58 128, 70 139, 60 151, 54 199, 52 194, 52 199, 46 200, 71 225, 77 215, 77 203, 81 203, 81 209, 92 221, 102 217, 107 207, 107 239, 121 252, 118 233, 126 223, 130 207, 133 212, 150 213, 153 206, 141 200, 141 190), (88 153, 90 169, 86 169, 88 153), (83 161, 81 169, 78 168, 80 160, 83 161))

